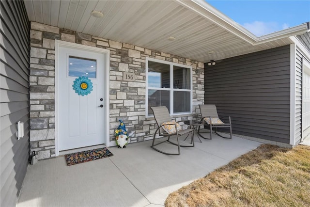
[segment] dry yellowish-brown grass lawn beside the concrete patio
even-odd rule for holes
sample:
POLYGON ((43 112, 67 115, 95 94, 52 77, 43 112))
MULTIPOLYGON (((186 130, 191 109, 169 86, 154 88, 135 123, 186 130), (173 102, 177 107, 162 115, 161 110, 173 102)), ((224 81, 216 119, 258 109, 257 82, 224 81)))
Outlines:
POLYGON ((172 192, 167 207, 310 207, 310 146, 263 144, 172 192))

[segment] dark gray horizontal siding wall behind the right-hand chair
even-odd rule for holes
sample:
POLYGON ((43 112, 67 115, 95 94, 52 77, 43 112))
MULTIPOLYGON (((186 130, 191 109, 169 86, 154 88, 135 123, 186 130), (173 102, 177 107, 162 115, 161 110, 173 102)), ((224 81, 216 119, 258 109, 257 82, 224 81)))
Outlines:
POLYGON ((289 143, 290 46, 205 64, 204 88, 234 134, 289 143))

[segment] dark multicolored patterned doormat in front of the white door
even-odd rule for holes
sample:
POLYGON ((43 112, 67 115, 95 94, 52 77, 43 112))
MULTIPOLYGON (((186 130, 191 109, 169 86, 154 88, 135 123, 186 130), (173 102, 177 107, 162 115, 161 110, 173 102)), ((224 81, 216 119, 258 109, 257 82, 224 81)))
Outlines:
POLYGON ((96 159, 107 158, 113 156, 113 154, 105 148, 92 149, 83 152, 77 152, 65 155, 67 165, 74 165, 78 163, 88 162, 96 159))

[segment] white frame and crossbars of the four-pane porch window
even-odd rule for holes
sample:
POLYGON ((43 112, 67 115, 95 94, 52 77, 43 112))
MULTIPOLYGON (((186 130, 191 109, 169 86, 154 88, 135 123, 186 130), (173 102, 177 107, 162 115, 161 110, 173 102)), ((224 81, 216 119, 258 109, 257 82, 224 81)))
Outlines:
POLYGON ((170 92, 170 115, 171 116, 177 116, 177 115, 187 115, 187 114, 192 114, 193 112, 193 67, 189 65, 184 65, 184 64, 178 64, 178 63, 173 63, 169 61, 163 61, 155 58, 145 58, 145 117, 154 117, 154 115, 148 115, 148 91, 149 90, 162 90, 162 91, 169 91, 170 92), (148 69, 149 69, 149 61, 156 62, 156 63, 162 63, 162 64, 168 64, 170 65, 170 88, 158 88, 158 87, 149 87, 148 86, 148 69), (173 88, 173 66, 179 66, 179 67, 185 67, 190 70, 190 89, 177 89, 173 88), (186 112, 176 112, 173 113, 173 92, 174 91, 184 91, 184 92, 190 92, 190 106, 189 110, 186 112))

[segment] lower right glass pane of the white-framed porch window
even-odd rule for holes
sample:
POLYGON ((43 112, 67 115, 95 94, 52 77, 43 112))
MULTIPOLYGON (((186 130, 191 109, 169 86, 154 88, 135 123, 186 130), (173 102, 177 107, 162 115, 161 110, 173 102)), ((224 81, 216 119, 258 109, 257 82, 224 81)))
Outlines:
POLYGON ((190 92, 173 92, 173 113, 190 112, 190 92))

